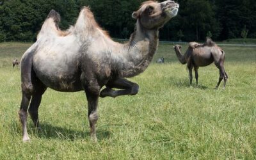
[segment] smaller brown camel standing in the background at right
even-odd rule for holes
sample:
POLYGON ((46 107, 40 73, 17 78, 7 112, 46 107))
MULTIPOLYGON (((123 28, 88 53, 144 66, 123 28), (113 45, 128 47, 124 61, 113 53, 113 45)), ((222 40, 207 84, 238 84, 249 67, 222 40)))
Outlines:
POLYGON ((195 70, 196 84, 198 84, 198 67, 205 67, 214 62, 216 67, 220 70, 220 78, 215 88, 218 88, 222 79, 224 79, 223 89, 225 88, 228 79, 228 75, 224 68, 225 52, 218 47, 218 45, 212 42, 211 38, 207 38, 205 44, 198 44, 196 42, 189 43, 188 50, 183 56, 180 52, 180 45, 175 45, 173 48, 180 63, 187 63, 190 85, 192 84, 193 79, 193 68, 195 70))

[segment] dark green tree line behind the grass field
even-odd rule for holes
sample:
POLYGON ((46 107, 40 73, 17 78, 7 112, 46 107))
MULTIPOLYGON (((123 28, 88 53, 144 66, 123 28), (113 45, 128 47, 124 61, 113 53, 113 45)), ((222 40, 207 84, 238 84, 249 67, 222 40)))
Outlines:
MULTIPOLYGON (((61 15, 61 29, 76 22, 90 6, 100 26, 115 38, 129 38, 133 11, 143 0, 0 0, 0 42, 35 41, 51 9, 61 15)), ((161 2, 161 1, 159 1, 161 2)), ((194 41, 256 38, 255 0, 179 0, 179 15, 160 30, 161 40, 194 41)))

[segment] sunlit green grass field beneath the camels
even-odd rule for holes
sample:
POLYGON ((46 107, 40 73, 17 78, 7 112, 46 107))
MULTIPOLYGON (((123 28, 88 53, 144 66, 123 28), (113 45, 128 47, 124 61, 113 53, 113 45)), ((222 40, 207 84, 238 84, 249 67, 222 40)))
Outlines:
MULTIPOLYGON (((186 65, 160 44, 150 67, 131 81, 135 96, 99 100, 98 143, 89 136, 83 92, 47 89, 39 108, 43 132, 19 122, 21 58, 31 44, 0 44, 0 159, 256 159, 256 47, 223 47, 229 76, 214 90, 218 69, 199 68, 189 87, 186 65), (164 64, 155 63, 163 56, 164 64)), ((182 52, 186 46, 182 47, 182 52)))

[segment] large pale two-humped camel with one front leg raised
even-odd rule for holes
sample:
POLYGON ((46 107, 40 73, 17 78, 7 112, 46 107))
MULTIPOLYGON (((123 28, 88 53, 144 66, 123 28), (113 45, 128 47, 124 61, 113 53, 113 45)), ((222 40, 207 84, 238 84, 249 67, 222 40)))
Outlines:
POLYGON ((40 129, 38 107, 47 87, 59 92, 84 90, 92 140, 97 141, 99 97, 136 95, 139 86, 125 79, 143 72, 157 50, 159 28, 177 15, 173 1, 147 1, 132 13, 136 29, 127 44, 113 42, 84 7, 74 27, 58 28, 60 15, 52 10, 37 40, 21 60, 22 101, 20 121, 23 141, 28 141, 27 117, 40 129), (106 86, 103 90, 101 88, 106 86), (121 90, 113 90, 118 88, 121 90), (101 92, 100 92, 101 90, 101 92), (30 102, 30 104, 29 104, 30 102))

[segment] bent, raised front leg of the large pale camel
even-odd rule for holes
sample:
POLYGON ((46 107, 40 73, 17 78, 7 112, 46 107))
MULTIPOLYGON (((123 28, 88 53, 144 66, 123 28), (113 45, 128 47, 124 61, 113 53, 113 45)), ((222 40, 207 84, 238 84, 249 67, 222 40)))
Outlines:
POLYGON ((120 95, 136 95, 139 92, 139 85, 136 83, 132 83, 124 78, 115 79, 115 81, 111 81, 111 83, 106 85, 100 92, 100 97, 117 97, 120 95), (112 88, 124 89, 124 90, 113 90, 112 88))

